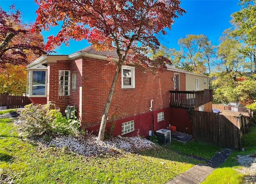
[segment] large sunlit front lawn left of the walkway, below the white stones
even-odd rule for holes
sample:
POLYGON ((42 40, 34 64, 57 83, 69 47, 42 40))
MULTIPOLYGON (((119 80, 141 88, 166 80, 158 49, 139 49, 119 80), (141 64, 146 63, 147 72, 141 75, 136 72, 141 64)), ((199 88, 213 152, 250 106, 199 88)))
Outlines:
POLYGON ((166 183, 198 160, 166 148, 137 154, 86 158, 65 149, 43 149, 22 141, 12 119, 0 119, 0 181, 41 183, 166 183))

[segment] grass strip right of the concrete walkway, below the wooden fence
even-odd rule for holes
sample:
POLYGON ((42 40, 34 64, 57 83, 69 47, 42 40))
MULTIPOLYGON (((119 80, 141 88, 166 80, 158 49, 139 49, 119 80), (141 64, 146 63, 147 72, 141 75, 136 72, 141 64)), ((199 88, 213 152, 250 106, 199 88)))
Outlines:
POLYGON ((214 170, 202 184, 240 184, 244 178, 244 175, 240 174, 236 169, 241 168, 236 160, 237 155, 256 154, 256 127, 250 127, 250 133, 242 136, 242 146, 245 151, 234 151, 230 154, 226 162, 224 162, 220 168, 214 170))

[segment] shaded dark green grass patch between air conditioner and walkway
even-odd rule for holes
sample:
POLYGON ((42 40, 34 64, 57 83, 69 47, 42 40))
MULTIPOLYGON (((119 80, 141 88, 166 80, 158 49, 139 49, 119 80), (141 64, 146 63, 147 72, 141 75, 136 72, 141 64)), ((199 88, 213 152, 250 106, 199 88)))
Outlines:
POLYGON ((186 144, 172 140, 170 144, 166 146, 170 150, 181 152, 188 156, 197 156, 209 160, 216 153, 218 153, 221 148, 214 144, 209 144, 206 142, 198 140, 190 140, 186 144))

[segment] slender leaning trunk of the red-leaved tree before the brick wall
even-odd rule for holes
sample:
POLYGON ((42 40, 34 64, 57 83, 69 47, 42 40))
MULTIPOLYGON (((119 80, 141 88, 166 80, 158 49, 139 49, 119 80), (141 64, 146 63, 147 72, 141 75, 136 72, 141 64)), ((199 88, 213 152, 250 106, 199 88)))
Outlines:
POLYGON ((114 75, 110 91, 108 93, 108 99, 107 99, 106 105, 104 107, 104 111, 103 111, 103 115, 102 115, 102 119, 101 119, 101 123, 100 123, 99 135, 98 135, 97 140, 104 140, 104 134, 105 134, 106 124, 107 124, 107 120, 108 120, 108 110, 110 108, 110 103, 111 103, 113 95, 114 95, 114 89, 116 86, 116 81, 117 81, 118 75, 121 71, 121 67, 122 67, 122 64, 118 63, 116 73, 114 75))

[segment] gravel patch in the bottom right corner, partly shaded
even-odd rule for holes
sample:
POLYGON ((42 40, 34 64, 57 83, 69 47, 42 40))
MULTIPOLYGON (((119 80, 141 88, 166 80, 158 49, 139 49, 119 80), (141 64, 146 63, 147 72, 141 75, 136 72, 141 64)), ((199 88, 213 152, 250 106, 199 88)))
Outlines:
POLYGON ((238 170, 245 174, 245 184, 256 184, 256 154, 254 155, 237 155, 237 160, 242 167, 238 170))

